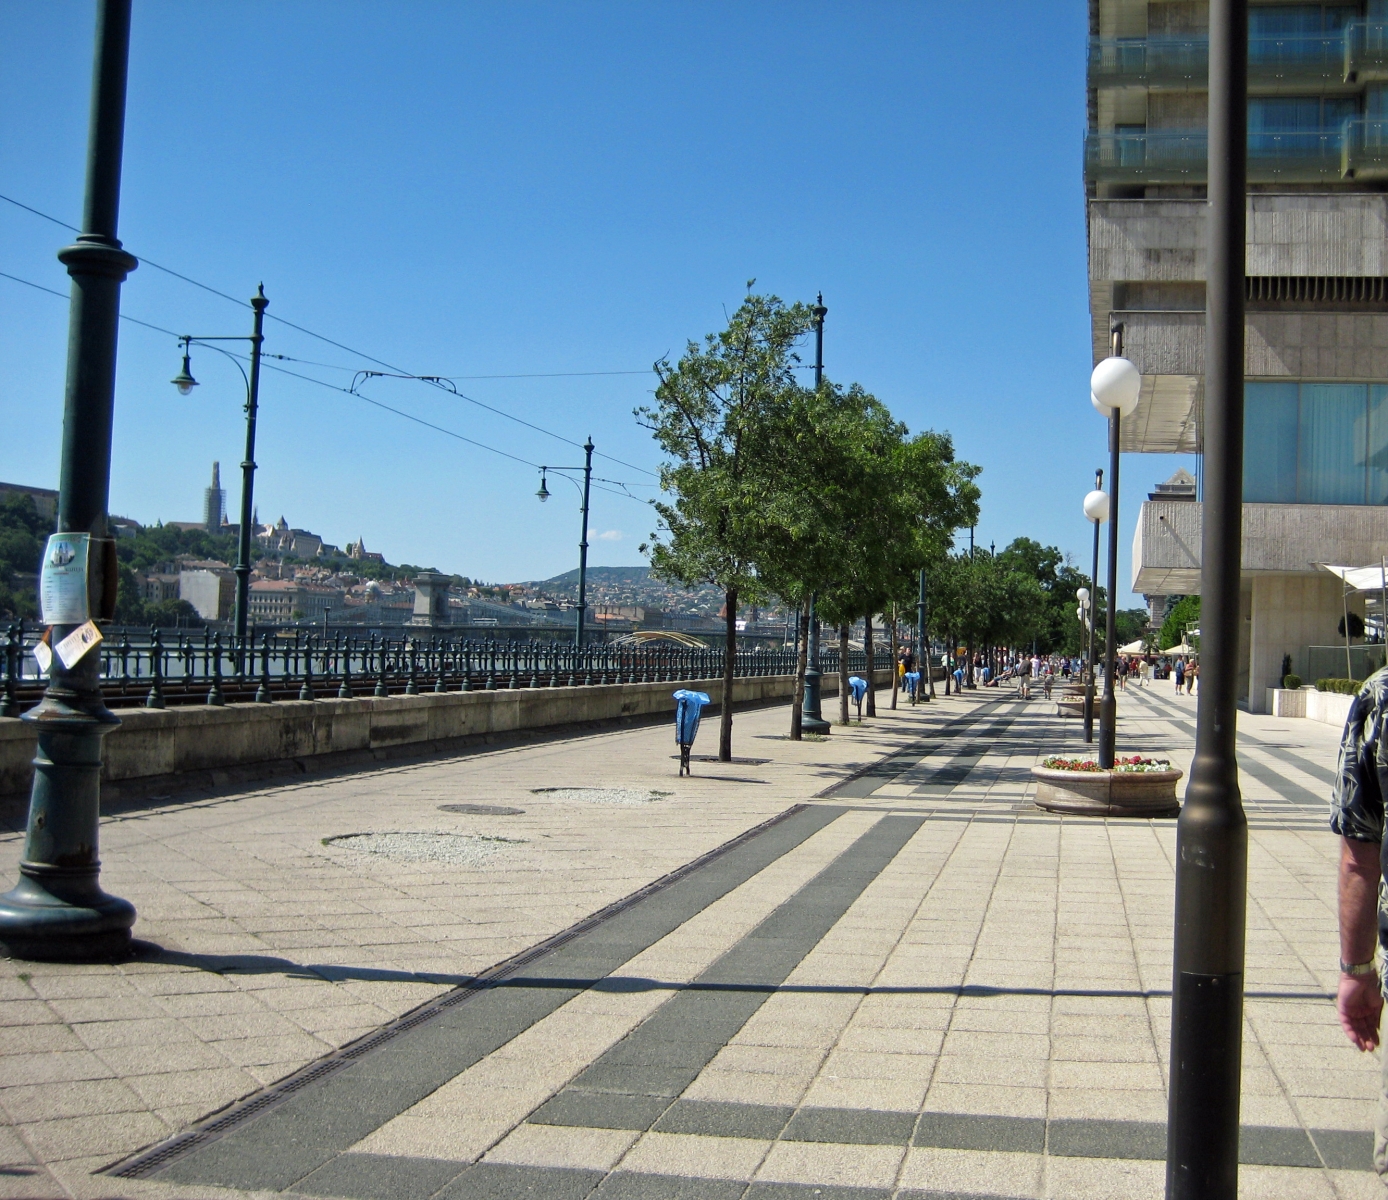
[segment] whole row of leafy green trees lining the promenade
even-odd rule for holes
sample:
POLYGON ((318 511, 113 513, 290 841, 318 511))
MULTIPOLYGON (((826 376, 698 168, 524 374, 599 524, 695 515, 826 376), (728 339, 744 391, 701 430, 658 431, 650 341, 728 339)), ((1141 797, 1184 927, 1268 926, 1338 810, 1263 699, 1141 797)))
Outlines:
MULTIPOLYGON (((870 655, 873 620, 884 615, 895 651, 895 615, 915 615, 922 569, 930 626, 951 645, 1078 652, 1074 591, 1090 581, 1030 538, 999 554, 954 554, 956 531, 979 519, 980 468, 955 456, 948 433, 911 433, 856 383, 802 383, 801 348, 815 320, 811 305, 748 284, 725 329, 655 363, 655 400, 636 409, 665 456, 659 527, 641 551, 655 576, 723 592, 723 695, 731 695, 738 610, 779 598, 799 620, 790 728, 799 738, 811 598, 843 649, 862 620, 870 655)), ((840 663, 847 723, 847 653, 840 663)), ((872 689, 867 703, 872 713, 872 689)), ((725 762, 731 732, 725 703, 725 762)))

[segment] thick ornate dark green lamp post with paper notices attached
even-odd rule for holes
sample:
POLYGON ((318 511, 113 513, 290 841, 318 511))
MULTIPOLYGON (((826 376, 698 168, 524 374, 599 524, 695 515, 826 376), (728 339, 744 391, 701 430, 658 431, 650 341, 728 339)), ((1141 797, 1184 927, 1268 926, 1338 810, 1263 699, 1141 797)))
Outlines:
MULTIPOLYGON (((78 602, 49 616, 51 646, 86 623, 82 613, 115 615, 107 501, 117 326, 121 283, 137 265, 117 237, 129 49, 130 0, 100 0, 82 233, 58 251, 72 277, 58 533, 75 535, 68 545, 87 540, 89 569, 78 602)), ((46 551, 44 574, 50 562, 58 559, 46 551)), ((39 732, 39 752, 19 882, 0 898, 0 946, 17 959, 111 959, 130 948, 135 906, 100 886, 101 738, 119 724, 101 698, 100 663, 94 646, 71 667, 54 655, 43 699, 24 714, 39 732)))

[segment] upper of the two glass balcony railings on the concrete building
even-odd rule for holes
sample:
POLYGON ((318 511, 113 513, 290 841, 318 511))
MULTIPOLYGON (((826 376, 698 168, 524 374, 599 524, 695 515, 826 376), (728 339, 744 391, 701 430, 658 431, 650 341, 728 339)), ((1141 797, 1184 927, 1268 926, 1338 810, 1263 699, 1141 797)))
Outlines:
MULTIPOLYGON (((1388 79, 1388 25, 1356 21, 1337 33, 1249 37, 1248 86, 1255 90, 1338 89, 1388 79)), ((1203 89, 1208 37, 1094 37, 1091 87, 1203 89)))

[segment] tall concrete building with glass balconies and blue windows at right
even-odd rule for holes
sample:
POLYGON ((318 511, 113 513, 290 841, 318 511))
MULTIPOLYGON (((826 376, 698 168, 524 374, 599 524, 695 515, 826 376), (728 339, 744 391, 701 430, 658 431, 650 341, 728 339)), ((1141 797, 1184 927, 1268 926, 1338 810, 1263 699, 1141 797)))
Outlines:
MULTIPOLYGON (((1388 0, 1249 10, 1239 692, 1253 712, 1288 660, 1303 678, 1344 674, 1345 599, 1317 563, 1388 555, 1385 21, 1388 0), (1337 641, 1338 666, 1323 651, 1337 641)), ((1208 25, 1201 0, 1090 4, 1084 155, 1094 359, 1122 325, 1142 372, 1120 447, 1190 454, 1196 479, 1208 25)), ((1201 513, 1185 491, 1142 504, 1133 588, 1153 615, 1199 592, 1201 513)), ((1363 597, 1349 608, 1363 616, 1363 597)))

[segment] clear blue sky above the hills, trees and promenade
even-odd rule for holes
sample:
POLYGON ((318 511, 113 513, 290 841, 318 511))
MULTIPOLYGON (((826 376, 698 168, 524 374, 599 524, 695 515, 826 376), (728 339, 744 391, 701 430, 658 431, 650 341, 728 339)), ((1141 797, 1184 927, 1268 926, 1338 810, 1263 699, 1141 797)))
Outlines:
MULTIPOLYGON (((0 4, 0 191, 76 223, 94 10, 0 4)), ((136 255, 414 373, 647 372, 744 284, 823 290, 826 363, 983 466, 979 538, 1088 562, 1106 459, 1088 404, 1085 7, 922 3, 135 0, 121 236, 136 255)), ((0 204, 0 271, 67 291, 68 236, 0 204)), ((175 332, 250 312, 142 266, 122 311, 175 332)), ((0 279, 0 479, 57 486, 67 305, 0 279)), ((279 363, 346 386, 361 354, 266 323, 279 363), (337 369, 343 368, 343 369, 337 369)), ((111 509, 239 504, 232 363, 124 323, 111 509)), ((648 373, 459 380, 636 468, 648 373)), ((421 383, 384 404, 529 463, 582 451, 421 383)), ((268 372, 257 499, 339 545, 487 580, 576 565, 576 492, 341 391, 268 372)), ((1127 456, 1137 501, 1176 461, 1127 456)), ((651 476, 598 459, 648 497, 651 476)), ((593 562, 640 562, 652 513, 597 492, 593 562)), ((967 533, 965 533, 965 542, 967 533)), ((1123 602, 1140 602, 1127 598, 1123 602)))

